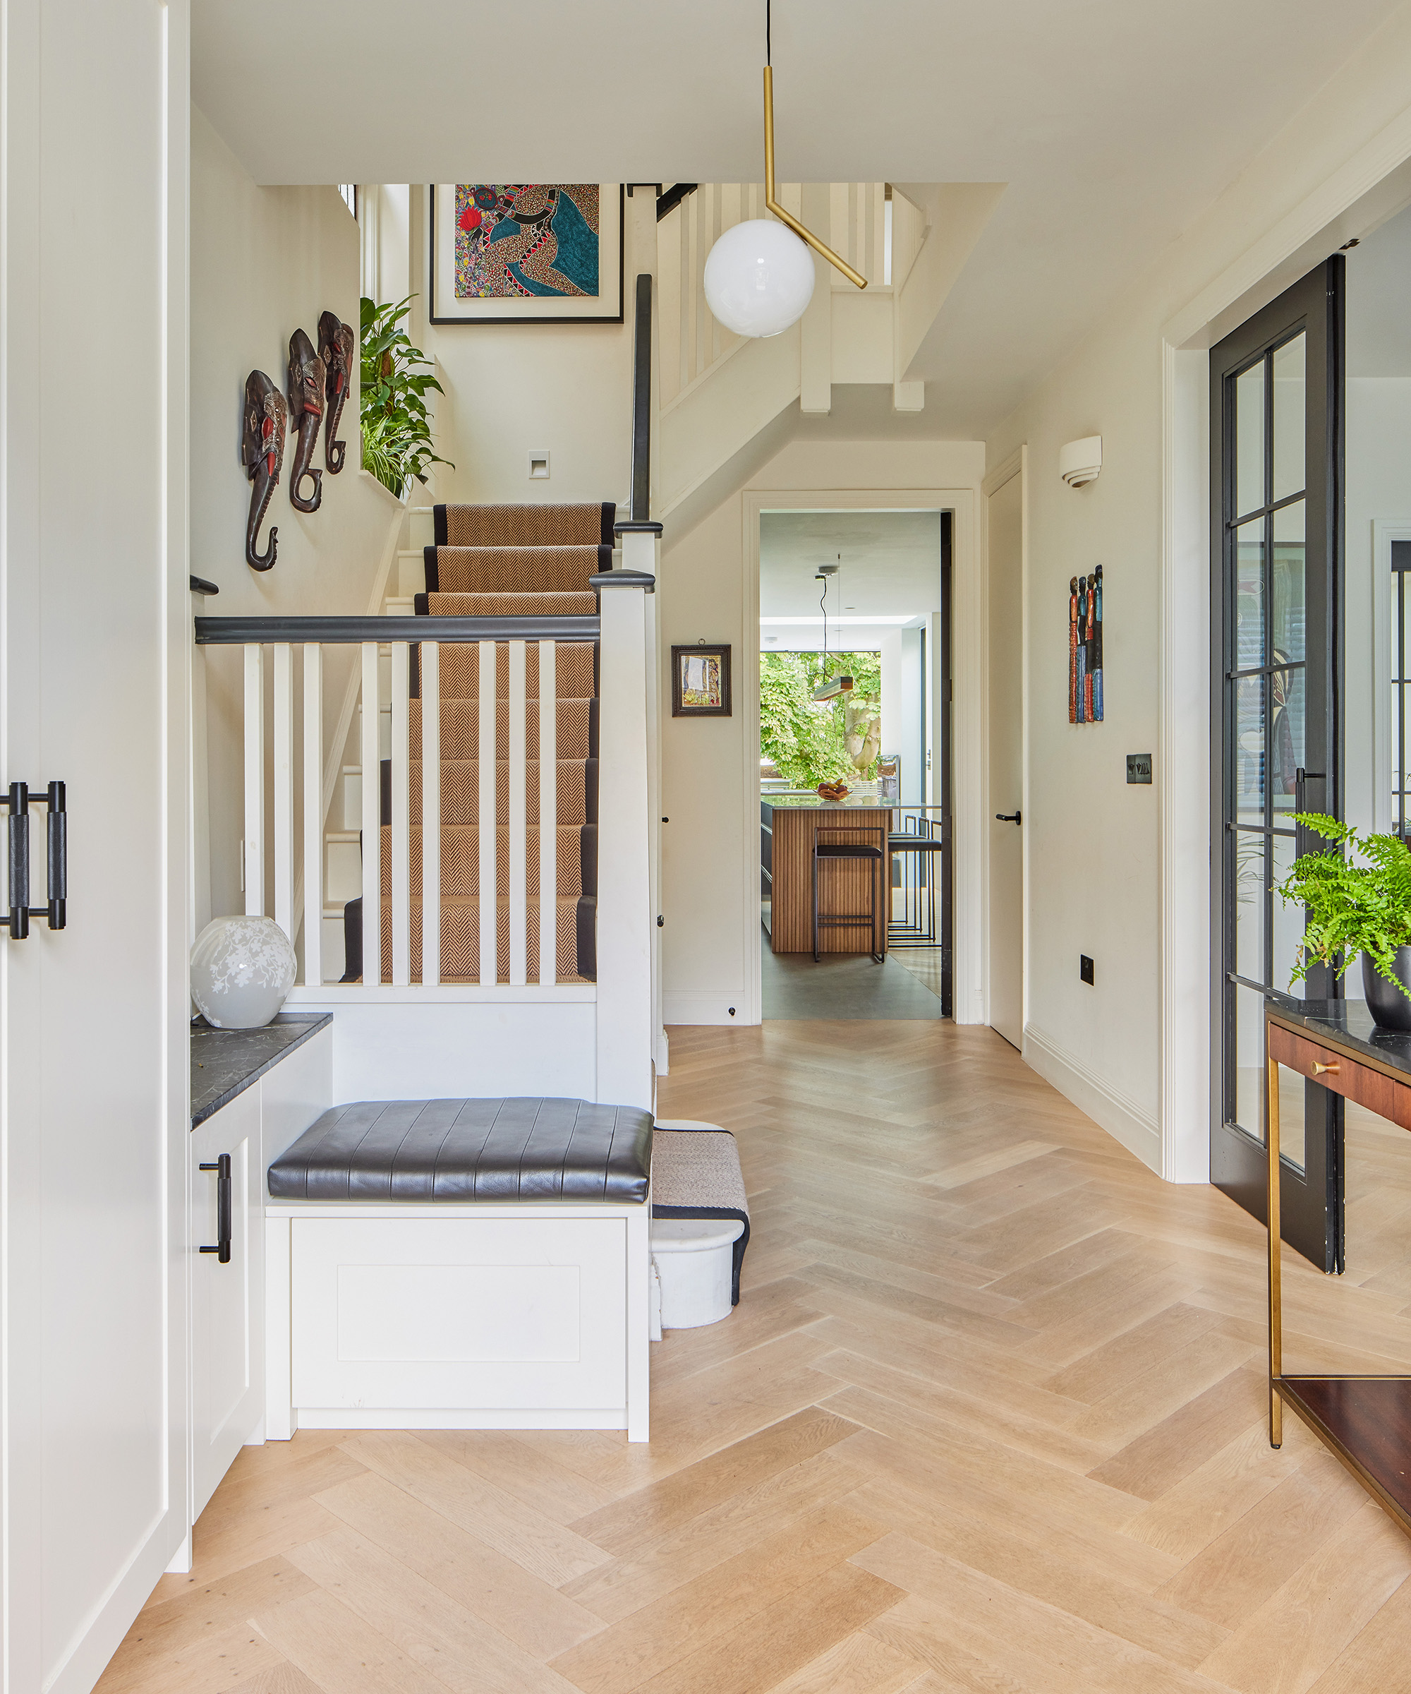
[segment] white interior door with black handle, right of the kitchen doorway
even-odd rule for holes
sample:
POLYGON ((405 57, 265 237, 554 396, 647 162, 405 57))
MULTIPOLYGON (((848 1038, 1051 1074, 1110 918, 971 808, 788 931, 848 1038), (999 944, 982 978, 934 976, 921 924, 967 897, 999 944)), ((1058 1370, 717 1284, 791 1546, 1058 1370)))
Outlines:
POLYGON ((1023 473, 988 495, 989 1023, 1023 1047, 1023 473))

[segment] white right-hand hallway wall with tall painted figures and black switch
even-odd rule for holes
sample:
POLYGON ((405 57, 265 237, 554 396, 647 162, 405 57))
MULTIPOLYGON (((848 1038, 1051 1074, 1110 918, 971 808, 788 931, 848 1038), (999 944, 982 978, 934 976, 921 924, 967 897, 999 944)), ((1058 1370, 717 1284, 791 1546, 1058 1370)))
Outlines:
POLYGON ((1209 566, 1196 490, 1204 354, 1189 354, 1187 371, 1179 363, 1187 356, 1169 347, 1209 346, 1404 203, 1411 186, 1377 183, 1411 156, 1408 88, 1411 8, 1403 7, 988 442, 989 464, 1026 442, 1032 468, 1028 1016, 1047 1045, 1037 1062, 1126 1145, 1182 1179, 1204 1177, 1209 1132, 1201 894, 1209 566), (1067 490, 1059 447, 1091 434, 1103 435, 1103 474, 1067 490), (1106 722, 1077 728, 1064 696, 1067 579, 1098 562, 1106 722), (1162 747, 1179 762, 1179 784, 1164 794, 1159 759, 1154 788, 1126 788, 1123 756, 1162 747), (1094 989, 1077 988, 1079 950, 1096 960, 1094 989), (1167 962, 1184 957, 1165 979, 1164 950, 1167 962))

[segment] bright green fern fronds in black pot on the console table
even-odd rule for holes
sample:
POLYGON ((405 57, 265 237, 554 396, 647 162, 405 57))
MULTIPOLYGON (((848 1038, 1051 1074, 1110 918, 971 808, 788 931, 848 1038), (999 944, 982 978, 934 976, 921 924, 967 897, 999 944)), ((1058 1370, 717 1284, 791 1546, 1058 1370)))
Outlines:
POLYGON ((1298 822, 1321 835, 1340 852, 1304 852, 1294 859, 1275 893, 1286 906, 1308 908, 1303 959, 1289 986, 1301 983, 1311 966, 1326 964, 1347 976, 1357 954, 1365 954, 1379 976, 1396 983, 1396 950, 1411 945, 1411 852, 1399 835, 1358 835, 1321 811, 1301 811, 1298 822), (1358 854, 1365 864, 1345 854, 1358 854))

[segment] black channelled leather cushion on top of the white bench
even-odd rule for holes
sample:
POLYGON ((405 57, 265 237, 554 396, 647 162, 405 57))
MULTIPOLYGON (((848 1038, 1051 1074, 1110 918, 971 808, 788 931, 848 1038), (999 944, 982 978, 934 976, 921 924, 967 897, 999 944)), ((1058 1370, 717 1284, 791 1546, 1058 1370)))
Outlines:
POLYGON ((652 1115, 586 1099, 364 1099, 269 1165, 271 1199, 644 1203, 652 1115))

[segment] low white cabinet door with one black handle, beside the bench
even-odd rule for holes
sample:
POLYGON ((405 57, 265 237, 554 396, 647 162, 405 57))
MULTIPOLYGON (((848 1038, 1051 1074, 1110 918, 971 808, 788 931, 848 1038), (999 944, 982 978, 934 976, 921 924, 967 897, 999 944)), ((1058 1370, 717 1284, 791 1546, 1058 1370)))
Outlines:
POLYGON ((263 1216, 259 1088, 247 1088, 191 1130, 193 1521, 264 1418, 263 1216))

